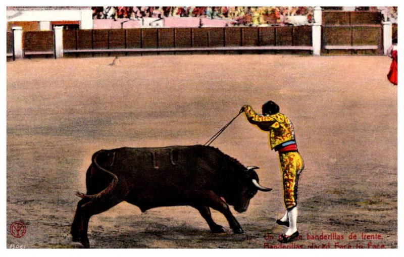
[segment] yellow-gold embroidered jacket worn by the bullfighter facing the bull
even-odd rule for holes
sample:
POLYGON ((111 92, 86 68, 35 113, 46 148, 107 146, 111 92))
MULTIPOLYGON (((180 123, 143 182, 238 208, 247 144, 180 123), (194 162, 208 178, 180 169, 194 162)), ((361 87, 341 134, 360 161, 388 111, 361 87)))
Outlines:
POLYGON ((271 149, 282 143, 294 141, 293 124, 281 113, 274 115, 257 114, 248 105, 243 106, 245 116, 249 123, 257 125, 261 130, 269 131, 269 143, 271 149))

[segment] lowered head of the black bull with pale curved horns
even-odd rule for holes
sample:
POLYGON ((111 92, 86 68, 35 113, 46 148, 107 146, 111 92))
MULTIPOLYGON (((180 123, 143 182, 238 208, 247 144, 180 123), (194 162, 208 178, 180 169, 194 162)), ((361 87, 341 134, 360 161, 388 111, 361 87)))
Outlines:
POLYGON ((256 166, 246 167, 246 170, 244 171, 245 176, 243 176, 242 181, 239 181, 239 188, 236 195, 234 195, 234 200, 232 202, 232 205, 234 205, 234 210, 236 212, 242 213, 247 211, 250 199, 257 194, 258 190, 264 192, 272 190, 272 188, 260 185, 258 175, 255 172, 256 169, 259 168, 256 166))

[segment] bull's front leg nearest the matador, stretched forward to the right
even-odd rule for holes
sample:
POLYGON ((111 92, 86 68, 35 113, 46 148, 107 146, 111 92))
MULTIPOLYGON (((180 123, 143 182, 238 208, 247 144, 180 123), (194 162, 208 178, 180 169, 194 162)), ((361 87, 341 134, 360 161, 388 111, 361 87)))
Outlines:
POLYGON ((211 207, 219 212, 221 212, 229 222, 230 228, 233 230, 235 234, 242 234, 244 231, 242 230, 240 224, 237 222, 236 218, 234 218, 233 214, 230 212, 229 205, 223 201, 215 192, 207 190, 207 191, 199 191, 195 190, 192 192, 192 195, 204 203, 208 207, 211 207))

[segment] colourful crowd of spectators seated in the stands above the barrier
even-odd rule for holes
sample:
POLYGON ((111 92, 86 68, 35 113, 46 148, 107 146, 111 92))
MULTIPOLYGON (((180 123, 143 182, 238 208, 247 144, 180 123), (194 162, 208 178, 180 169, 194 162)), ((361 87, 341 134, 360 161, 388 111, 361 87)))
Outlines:
MULTIPOLYGON (((287 16, 306 16, 311 22, 312 7, 92 7, 93 19, 141 19, 146 17, 200 17, 228 19, 233 25, 261 26, 286 24, 287 16)), ((287 24, 286 24, 287 25, 287 24)))

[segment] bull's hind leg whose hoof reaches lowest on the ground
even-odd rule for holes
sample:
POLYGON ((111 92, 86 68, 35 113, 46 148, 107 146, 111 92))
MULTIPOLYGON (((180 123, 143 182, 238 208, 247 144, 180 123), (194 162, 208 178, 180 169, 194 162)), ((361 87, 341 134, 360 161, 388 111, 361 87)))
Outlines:
POLYGON ((81 205, 81 222, 79 228, 79 240, 84 248, 89 248, 87 231, 88 222, 91 216, 103 213, 123 201, 122 197, 111 197, 107 199, 93 199, 81 205))

